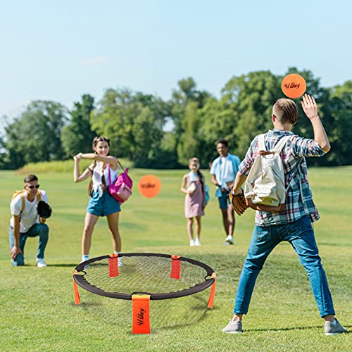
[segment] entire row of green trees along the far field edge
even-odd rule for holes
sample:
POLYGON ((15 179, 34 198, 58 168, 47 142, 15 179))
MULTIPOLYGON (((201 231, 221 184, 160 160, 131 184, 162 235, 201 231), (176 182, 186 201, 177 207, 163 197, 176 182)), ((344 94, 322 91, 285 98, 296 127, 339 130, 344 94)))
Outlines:
MULTIPOLYGON (((309 158, 310 165, 352 164, 352 81, 321 87, 310 70, 289 68, 307 83, 318 102, 331 151, 325 158, 309 158)), ((272 128, 272 104, 281 97, 284 76, 256 71, 234 76, 220 97, 197 89, 189 77, 177 82, 168 101, 129 89, 106 89, 100 101, 84 94, 68 110, 55 101, 32 101, 5 126, 0 136, 0 168, 72 158, 92 151, 92 139, 111 139, 111 154, 140 168, 180 168, 196 156, 202 168, 217 156, 215 142, 228 139, 230 152, 243 158, 251 139, 272 128), (172 130, 165 130, 165 124, 172 130)), ((293 132, 313 138, 310 122, 296 99, 299 118, 293 132)))

